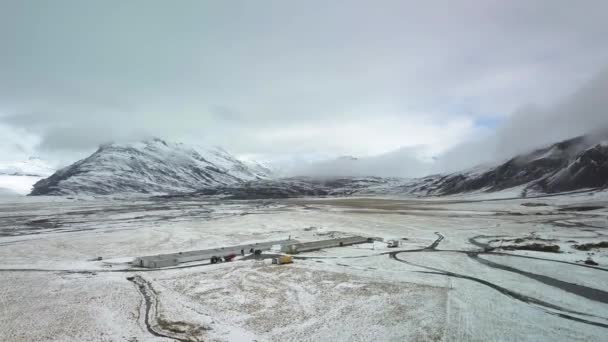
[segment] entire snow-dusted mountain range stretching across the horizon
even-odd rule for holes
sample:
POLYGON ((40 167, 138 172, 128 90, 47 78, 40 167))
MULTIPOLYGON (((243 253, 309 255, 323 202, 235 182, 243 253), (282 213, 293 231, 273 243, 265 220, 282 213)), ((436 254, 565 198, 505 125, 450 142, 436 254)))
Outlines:
MULTIPOLYGON (((607 187, 607 141, 606 135, 581 136, 515 156, 498 165, 417 179, 332 174, 276 180, 270 179, 270 170, 264 165, 239 160, 221 148, 195 150, 153 139, 103 145, 90 157, 37 182, 32 195, 193 192, 194 196, 273 198, 352 194, 426 196, 518 189, 525 196, 607 187)), ((357 170, 365 170, 356 158, 338 161, 342 166, 356 164, 357 170)), ((379 157, 367 158, 363 165, 377 161, 384 163, 379 157)), ((331 166, 334 165, 332 162, 331 166)), ((331 170, 340 173, 343 168, 331 170)))

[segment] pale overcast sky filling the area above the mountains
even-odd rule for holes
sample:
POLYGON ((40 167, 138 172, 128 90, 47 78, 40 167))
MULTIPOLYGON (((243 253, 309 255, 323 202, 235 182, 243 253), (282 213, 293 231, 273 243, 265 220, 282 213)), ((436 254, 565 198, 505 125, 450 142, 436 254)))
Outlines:
POLYGON ((608 121, 585 100, 605 104, 606 13, 605 0, 0 0, 0 159, 159 136, 265 160, 483 161, 608 121))

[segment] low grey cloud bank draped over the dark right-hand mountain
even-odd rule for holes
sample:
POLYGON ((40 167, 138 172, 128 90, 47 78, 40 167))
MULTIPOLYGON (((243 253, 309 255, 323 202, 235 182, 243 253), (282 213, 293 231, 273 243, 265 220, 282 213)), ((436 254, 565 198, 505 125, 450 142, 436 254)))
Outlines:
POLYGON ((288 174, 420 177, 437 172, 462 171, 483 164, 495 165, 517 154, 579 135, 588 135, 592 140, 606 139, 607 94, 608 69, 573 94, 546 108, 532 105, 520 108, 495 131, 450 148, 439 155, 435 163, 421 160, 420 154, 425 146, 414 146, 367 158, 301 162, 288 174))

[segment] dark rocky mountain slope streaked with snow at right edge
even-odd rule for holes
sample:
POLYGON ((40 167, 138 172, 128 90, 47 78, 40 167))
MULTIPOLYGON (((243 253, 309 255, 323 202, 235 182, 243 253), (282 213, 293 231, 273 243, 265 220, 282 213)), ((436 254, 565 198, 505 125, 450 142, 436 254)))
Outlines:
POLYGON ((555 193, 608 186, 608 142, 581 136, 516 156, 498 166, 433 175, 411 185, 422 195, 493 192, 522 186, 528 192, 555 193))

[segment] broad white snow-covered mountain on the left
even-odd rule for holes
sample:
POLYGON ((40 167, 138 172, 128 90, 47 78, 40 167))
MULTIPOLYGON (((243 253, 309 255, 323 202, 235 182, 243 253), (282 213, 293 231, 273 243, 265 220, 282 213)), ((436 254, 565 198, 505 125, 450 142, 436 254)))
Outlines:
POLYGON ((175 193, 265 179, 221 148, 194 149, 158 138, 106 144, 34 185, 31 195, 175 193))

